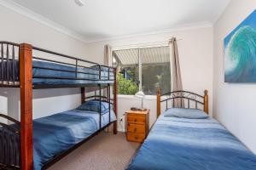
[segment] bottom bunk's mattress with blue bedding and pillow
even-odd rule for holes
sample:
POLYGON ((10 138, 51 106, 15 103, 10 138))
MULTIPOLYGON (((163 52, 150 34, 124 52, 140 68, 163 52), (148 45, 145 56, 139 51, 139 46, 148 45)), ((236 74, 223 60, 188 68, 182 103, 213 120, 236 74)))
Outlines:
MULTIPOLYGON (((49 167, 61 157, 66 156, 67 152, 83 144, 112 122, 116 122, 114 112, 108 108, 109 103, 102 101, 101 105, 102 107, 99 108, 99 100, 90 100, 77 109, 33 120, 33 169, 49 167)), ((15 124, 10 127, 17 128, 17 126, 15 124)), ((7 134, 10 131, 3 132, 1 128, 0 130, 1 133, 5 133, 5 137, 11 135, 7 134)), ((11 143, 11 146, 19 146, 20 139, 15 138, 11 143)), ((9 144, 8 141, 3 141, 3 148, 10 147, 9 144)), ((19 160, 19 156, 20 154, 13 154, 9 156, 10 160, 3 160, 0 165, 6 162, 17 162, 14 160, 19 160)), ((4 159, 7 157, 5 156, 4 159)))

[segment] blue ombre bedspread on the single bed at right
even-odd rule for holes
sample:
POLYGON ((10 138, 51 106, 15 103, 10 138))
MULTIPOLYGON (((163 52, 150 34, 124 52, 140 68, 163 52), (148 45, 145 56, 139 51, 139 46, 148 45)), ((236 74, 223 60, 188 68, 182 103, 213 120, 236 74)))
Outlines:
POLYGON ((155 122, 127 170, 253 170, 256 156, 212 118, 155 122))

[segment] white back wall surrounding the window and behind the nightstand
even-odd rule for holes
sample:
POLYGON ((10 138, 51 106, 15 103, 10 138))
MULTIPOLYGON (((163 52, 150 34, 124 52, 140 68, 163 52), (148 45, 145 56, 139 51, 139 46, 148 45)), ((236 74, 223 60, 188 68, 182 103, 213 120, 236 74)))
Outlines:
MULTIPOLYGON (((113 48, 125 47, 130 44, 162 42, 168 41, 171 37, 177 37, 177 46, 179 50, 179 59, 181 65, 183 88, 198 94, 203 94, 204 89, 209 90, 209 106, 212 114, 212 27, 173 31, 169 33, 155 34, 143 37, 129 37, 113 39, 102 42, 88 44, 88 55, 98 57, 98 62, 102 62, 103 46, 110 44, 113 48)), ((133 96, 119 96, 119 117, 122 117, 125 111, 134 106, 140 105, 140 99, 133 96)), ((148 97, 144 102, 145 107, 151 110, 150 124, 154 123, 156 115, 156 99, 148 97)), ((124 126, 122 126, 124 127, 124 126)), ((119 129, 122 128, 119 125, 119 129)))

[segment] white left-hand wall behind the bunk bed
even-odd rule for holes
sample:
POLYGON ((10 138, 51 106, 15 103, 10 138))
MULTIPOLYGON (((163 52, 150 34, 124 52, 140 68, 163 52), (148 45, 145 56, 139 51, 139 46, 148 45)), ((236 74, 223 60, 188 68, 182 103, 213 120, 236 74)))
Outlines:
MULTIPOLYGON (((86 44, 0 5, 0 41, 27 42, 62 54, 85 56, 86 44)), ((84 58, 87 59, 87 58, 84 58)), ((90 60, 94 60, 91 59, 90 60)), ((19 88, 0 88, 0 112, 19 119, 19 88)), ((33 91, 33 118, 73 109, 80 102, 79 88, 33 91)))

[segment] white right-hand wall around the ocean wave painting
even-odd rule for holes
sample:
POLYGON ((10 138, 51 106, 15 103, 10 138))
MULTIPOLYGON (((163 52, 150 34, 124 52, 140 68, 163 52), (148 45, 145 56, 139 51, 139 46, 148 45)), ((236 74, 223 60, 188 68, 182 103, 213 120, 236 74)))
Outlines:
POLYGON ((256 153, 255 83, 224 83, 224 37, 256 8, 256 1, 233 0, 214 26, 214 116, 256 153))

